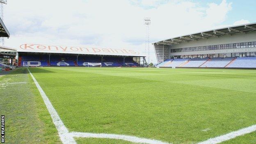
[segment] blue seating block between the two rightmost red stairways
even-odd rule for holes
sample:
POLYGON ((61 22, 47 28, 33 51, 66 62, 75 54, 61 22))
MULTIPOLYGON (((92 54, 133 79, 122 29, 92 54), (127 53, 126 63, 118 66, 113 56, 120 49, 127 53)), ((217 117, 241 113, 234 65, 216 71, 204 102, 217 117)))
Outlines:
POLYGON ((225 67, 232 59, 233 57, 214 57, 200 67, 225 67))

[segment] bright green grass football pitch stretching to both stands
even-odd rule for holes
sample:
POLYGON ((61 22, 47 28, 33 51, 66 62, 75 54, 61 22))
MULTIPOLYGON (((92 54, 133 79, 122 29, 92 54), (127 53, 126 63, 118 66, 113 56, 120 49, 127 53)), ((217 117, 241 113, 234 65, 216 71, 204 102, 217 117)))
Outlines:
MULTIPOLYGON (((155 144, 197 144, 256 124, 255 70, 49 67, 29 71, 18 68, 9 74, 13 77, 9 80, 24 82, 19 84, 26 85, 24 92, 32 91, 36 108, 31 113, 39 115, 35 117, 43 123, 46 143, 60 143, 57 133, 63 129, 57 132, 33 77, 78 144, 147 140, 155 144), (27 78, 19 79, 19 75, 27 78)), ((7 77, 0 78, 1 82, 7 82, 7 77)), ((6 88, 8 85, 2 90, 6 88)), ((9 132, 12 134, 16 135, 15 128, 9 132)), ((222 142, 255 143, 255 130, 222 142)))

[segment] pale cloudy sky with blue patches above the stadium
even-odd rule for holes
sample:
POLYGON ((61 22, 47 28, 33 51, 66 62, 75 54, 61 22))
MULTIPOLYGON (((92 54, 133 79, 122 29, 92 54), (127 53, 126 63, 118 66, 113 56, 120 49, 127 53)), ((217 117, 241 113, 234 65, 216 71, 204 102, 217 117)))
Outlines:
MULTIPOLYGON (((23 43, 133 48, 219 27, 255 23, 256 0, 8 0, 5 46, 23 43)), ((147 55, 147 52, 146 52, 147 55)), ((150 44, 150 62, 156 63, 150 44)))

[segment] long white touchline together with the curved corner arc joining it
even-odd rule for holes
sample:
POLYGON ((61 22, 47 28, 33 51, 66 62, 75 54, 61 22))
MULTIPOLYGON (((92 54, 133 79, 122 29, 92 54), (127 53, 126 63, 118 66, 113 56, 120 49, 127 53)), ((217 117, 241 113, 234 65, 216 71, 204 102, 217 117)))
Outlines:
POLYGON ((29 71, 32 79, 34 80, 34 83, 37 86, 37 89, 39 90, 44 103, 46 104, 46 107, 50 113, 50 116, 53 119, 53 123, 55 124, 55 127, 58 130, 59 137, 63 144, 76 144, 75 139, 73 137, 94 137, 94 138, 110 138, 110 139, 122 139, 129 142, 136 142, 136 143, 144 143, 144 144, 168 144, 165 142, 161 142, 159 140, 155 139, 146 139, 146 138, 139 138, 134 136, 128 136, 128 135, 116 135, 116 134, 105 134, 105 133, 80 133, 80 132, 71 132, 69 133, 69 130, 66 128, 62 120, 60 119, 57 111, 54 109, 53 105, 50 103, 50 100, 44 93, 43 89, 40 87, 37 80, 34 78, 30 70, 29 71))

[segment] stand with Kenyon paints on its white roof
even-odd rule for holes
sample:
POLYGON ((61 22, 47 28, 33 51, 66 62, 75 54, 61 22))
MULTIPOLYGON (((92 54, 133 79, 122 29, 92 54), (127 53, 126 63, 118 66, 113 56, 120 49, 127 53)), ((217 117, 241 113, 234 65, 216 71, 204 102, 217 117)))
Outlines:
POLYGON ((18 66, 144 66, 145 56, 125 48, 23 44, 18 66))

